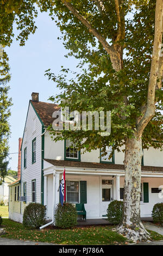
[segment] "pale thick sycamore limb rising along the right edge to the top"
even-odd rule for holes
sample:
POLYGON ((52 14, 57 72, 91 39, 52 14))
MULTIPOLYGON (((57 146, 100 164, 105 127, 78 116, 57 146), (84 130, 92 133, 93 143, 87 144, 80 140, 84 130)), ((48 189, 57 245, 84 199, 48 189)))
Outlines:
POLYGON ((156 0, 155 9, 155 32, 154 32, 154 45, 152 53, 151 72, 148 83, 148 97, 145 114, 137 125, 136 135, 141 136, 148 122, 151 120, 155 113, 155 90, 160 87, 157 83, 159 76, 162 75, 162 58, 160 57, 161 42, 162 42, 162 17, 163 17, 163 1, 156 0))

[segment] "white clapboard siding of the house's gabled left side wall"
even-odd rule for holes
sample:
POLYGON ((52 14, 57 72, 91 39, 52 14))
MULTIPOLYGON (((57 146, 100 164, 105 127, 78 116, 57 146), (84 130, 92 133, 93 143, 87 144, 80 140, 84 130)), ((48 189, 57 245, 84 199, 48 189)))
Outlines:
POLYGON ((22 142, 22 162, 21 162, 21 196, 23 196, 23 183, 26 182, 27 201, 21 203, 21 214, 27 204, 32 202, 32 180, 36 180, 36 202, 41 203, 41 133, 42 124, 37 117, 32 105, 26 121, 26 138, 22 142), (35 131, 33 121, 35 120, 35 131), (36 162, 32 164, 32 141, 36 138, 36 162), (24 148, 27 148, 27 168, 24 168, 24 148))

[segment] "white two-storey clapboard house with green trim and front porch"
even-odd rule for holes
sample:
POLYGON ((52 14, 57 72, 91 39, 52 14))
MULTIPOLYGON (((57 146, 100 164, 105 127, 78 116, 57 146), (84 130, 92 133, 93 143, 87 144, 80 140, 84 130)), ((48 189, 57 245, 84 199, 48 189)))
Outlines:
MULTIPOLYGON (((124 153, 115 151, 112 159, 106 160, 100 150, 82 154, 70 148, 70 141, 52 141, 46 128, 59 109, 58 105, 39 101, 39 94, 32 93, 21 147, 20 209, 9 210, 12 220, 22 222, 24 208, 30 202, 47 205, 47 220, 52 220, 64 166, 66 201, 84 204, 87 219, 104 218, 111 200, 123 200, 124 153)), ((110 151, 108 148, 108 155, 110 151)), ((141 171, 141 217, 151 217, 154 204, 163 202, 159 197, 163 153, 154 148, 143 150, 141 171)))

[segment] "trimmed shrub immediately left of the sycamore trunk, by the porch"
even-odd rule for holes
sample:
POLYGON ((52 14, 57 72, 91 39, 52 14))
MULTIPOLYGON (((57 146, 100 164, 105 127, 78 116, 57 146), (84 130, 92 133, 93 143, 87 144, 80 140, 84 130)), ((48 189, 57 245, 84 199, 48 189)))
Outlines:
POLYGON ((119 224, 122 220, 123 202, 114 200, 108 205, 107 217, 112 224, 119 224))

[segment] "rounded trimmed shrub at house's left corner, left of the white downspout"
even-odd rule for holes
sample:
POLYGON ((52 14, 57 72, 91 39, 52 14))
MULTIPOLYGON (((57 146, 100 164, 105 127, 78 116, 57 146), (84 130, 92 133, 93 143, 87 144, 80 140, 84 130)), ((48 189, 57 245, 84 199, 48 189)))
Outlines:
POLYGON ((30 203, 24 209, 23 225, 27 228, 39 228, 45 224, 46 206, 30 203))

